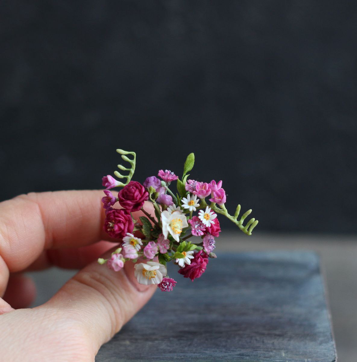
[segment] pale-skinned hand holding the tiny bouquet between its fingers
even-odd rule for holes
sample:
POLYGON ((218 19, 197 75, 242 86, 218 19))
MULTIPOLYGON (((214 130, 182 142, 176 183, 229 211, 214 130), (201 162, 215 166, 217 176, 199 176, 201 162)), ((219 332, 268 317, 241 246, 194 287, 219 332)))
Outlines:
POLYGON ((1 361, 94 361, 158 289, 137 283, 132 262, 118 272, 96 262, 118 241, 103 232, 102 197, 56 191, 0 202, 1 361), (27 308, 35 286, 22 272, 52 265, 80 270, 48 302, 27 308))

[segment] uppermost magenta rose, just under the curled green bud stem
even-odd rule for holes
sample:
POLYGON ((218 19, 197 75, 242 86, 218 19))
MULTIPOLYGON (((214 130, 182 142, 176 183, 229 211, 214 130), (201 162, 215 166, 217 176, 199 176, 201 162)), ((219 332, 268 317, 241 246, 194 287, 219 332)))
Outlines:
POLYGON ((122 207, 133 212, 143 207, 144 202, 149 199, 149 193, 140 182, 130 181, 119 191, 118 199, 122 207))

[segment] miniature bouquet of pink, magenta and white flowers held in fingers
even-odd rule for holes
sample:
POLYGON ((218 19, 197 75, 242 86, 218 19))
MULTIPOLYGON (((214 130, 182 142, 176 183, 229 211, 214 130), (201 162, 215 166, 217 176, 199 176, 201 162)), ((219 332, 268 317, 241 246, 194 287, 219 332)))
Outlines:
POLYGON ((205 272, 208 258, 216 257, 212 251, 221 232, 218 214, 231 220, 247 235, 251 235, 258 224, 253 218, 243 225, 251 210, 238 219, 240 205, 233 216, 228 214, 222 181, 207 183, 188 178, 194 165, 193 153, 186 159, 181 179, 170 170, 160 170, 159 178, 150 176, 140 184, 132 181, 135 152, 117 152, 130 164, 130 168, 122 165, 118 168, 129 174, 123 176, 114 172, 117 178, 126 178, 125 184, 110 175, 103 177, 103 186, 106 187, 102 198, 106 210, 103 228, 109 236, 122 241, 111 258, 99 258, 99 264, 107 264, 108 268, 119 271, 125 262, 136 263, 140 258, 142 262, 135 265, 138 282, 156 284, 162 291, 172 291, 176 281, 167 275, 167 262, 177 264, 178 272, 193 281, 205 272), (172 184, 177 191, 171 189, 172 184), (115 187, 122 188, 117 196, 109 191, 115 187), (145 201, 152 203, 152 213, 143 208, 145 201), (113 208, 116 203, 121 209, 113 208), (132 213, 138 210, 145 216, 135 220, 132 213))

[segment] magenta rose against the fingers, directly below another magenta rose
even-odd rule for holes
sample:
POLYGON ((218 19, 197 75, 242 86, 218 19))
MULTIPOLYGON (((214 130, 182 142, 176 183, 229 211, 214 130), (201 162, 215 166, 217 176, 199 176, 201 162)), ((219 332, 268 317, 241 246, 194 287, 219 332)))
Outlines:
POLYGON ((132 215, 125 209, 108 209, 103 230, 110 237, 122 238, 127 232, 132 233, 134 230, 132 215))

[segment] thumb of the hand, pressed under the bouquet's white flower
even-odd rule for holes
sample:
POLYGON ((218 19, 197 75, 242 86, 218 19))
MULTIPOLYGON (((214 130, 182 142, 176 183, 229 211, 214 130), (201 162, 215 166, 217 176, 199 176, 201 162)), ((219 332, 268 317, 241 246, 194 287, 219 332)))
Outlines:
MULTIPOLYGON (((103 257, 108 258, 113 248, 103 257)), ((141 285, 134 277, 134 263, 114 271, 93 262, 70 279, 43 307, 63 310, 84 324, 95 352, 151 298, 156 285, 141 285)))

